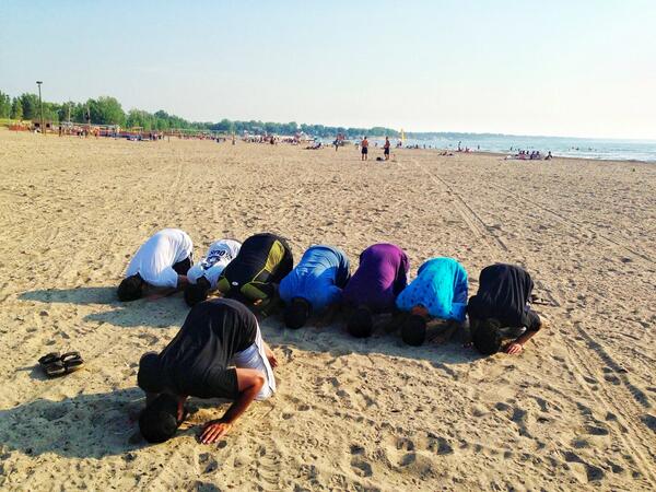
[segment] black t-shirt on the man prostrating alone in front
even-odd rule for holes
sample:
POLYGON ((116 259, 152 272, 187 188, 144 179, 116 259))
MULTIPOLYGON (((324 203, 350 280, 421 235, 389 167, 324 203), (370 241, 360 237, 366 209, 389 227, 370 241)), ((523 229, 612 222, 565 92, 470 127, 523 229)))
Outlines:
POLYGON ((178 395, 235 399, 237 373, 233 355, 255 343, 257 320, 243 304, 211 300, 197 304, 160 353, 165 385, 178 395))

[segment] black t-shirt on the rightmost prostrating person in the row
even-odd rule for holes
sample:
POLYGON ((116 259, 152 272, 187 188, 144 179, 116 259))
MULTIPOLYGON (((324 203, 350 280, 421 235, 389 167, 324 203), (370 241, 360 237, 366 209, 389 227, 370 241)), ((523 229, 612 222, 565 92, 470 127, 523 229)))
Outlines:
POLYGON ((534 282, 515 265, 496 263, 483 268, 479 289, 467 306, 470 318, 495 318, 502 326, 537 330, 540 318, 528 308, 534 282))

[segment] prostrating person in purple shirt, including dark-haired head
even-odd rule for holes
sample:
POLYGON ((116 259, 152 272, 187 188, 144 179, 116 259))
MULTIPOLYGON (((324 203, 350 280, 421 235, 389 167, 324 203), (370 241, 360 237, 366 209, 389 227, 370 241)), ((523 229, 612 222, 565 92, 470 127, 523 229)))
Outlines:
POLYGON ((343 290, 342 298, 353 312, 347 330, 354 337, 368 337, 374 316, 391 313, 397 295, 408 283, 408 255, 394 244, 375 244, 360 255, 360 266, 343 290))

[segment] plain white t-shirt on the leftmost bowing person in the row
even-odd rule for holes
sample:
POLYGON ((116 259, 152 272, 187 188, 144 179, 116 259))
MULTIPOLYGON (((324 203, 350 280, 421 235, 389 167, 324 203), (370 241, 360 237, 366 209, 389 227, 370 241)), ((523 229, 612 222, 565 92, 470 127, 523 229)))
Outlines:
POLYGON ((149 284, 161 288, 176 288, 175 263, 191 256, 194 244, 186 232, 179 229, 165 229, 153 235, 139 248, 126 277, 139 273, 149 284))

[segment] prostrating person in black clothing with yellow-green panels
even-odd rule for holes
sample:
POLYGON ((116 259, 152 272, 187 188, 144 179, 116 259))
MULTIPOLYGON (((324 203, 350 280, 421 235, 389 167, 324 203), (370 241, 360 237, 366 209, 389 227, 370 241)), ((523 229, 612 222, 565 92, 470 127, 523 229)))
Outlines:
POLYGON ((265 308, 277 298, 278 284, 293 266, 292 249, 284 237, 256 234, 225 267, 216 288, 226 297, 265 308))

